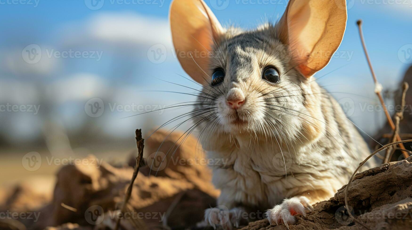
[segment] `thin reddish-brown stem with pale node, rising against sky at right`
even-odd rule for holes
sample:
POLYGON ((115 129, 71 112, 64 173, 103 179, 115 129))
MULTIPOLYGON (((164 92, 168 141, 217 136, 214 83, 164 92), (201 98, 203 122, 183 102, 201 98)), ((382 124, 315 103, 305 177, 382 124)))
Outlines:
MULTIPOLYGON (((366 60, 368 61, 369 69, 370 69, 370 72, 372 73, 373 81, 375 82, 375 93, 378 95, 379 101, 382 104, 382 107, 384 109, 386 119, 388 119, 389 125, 391 126, 392 130, 395 130, 395 124, 393 123, 391 115, 389 115, 389 112, 385 106, 385 102, 381 94, 382 85, 378 82, 376 75, 375 75, 375 71, 373 71, 373 68, 372 68, 372 63, 370 62, 370 59, 369 59, 369 54, 368 54, 368 50, 366 49, 365 39, 363 39, 362 20, 358 20, 356 24, 358 24, 359 36, 361 37, 363 51, 365 52, 366 60)), ((396 135, 396 140, 398 141, 402 140, 400 139, 400 136, 398 134, 396 135)), ((402 149, 405 149, 405 146, 402 143, 399 144, 399 147, 402 149)))

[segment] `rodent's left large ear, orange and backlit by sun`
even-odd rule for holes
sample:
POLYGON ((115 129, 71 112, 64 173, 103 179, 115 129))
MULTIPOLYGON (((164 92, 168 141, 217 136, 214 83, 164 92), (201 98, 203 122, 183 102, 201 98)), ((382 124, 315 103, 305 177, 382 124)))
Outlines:
POLYGON ((173 0, 170 26, 183 69, 197 82, 206 84, 213 40, 223 34, 218 19, 203 0, 173 0))

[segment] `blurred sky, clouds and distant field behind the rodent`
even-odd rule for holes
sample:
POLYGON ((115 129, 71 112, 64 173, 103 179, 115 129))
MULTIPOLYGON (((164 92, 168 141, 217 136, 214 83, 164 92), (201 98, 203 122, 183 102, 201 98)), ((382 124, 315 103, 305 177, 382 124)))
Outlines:
MULTIPOLYGON (((206 3, 222 25, 251 29, 282 15, 287 1, 206 3)), ((194 97, 157 91, 196 91, 157 78, 199 88, 180 76, 187 74, 173 52, 169 5, 169 0, 0 0, 0 173, 8 175, 0 185, 54 177, 60 164, 49 163, 51 157, 94 154, 125 161, 136 148, 135 129, 150 134, 190 109, 158 110, 194 97), (31 170, 26 161, 36 154, 47 163, 31 170)), ((348 0, 347 7, 342 45, 316 77, 370 141, 385 117, 356 20, 363 19, 372 64, 393 105, 393 92, 412 63, 412 0, 348 0)))

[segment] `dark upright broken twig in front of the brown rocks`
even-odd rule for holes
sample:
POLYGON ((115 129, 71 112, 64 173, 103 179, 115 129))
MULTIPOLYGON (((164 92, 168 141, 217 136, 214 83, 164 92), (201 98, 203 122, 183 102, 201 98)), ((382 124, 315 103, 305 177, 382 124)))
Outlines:
MULTIPOLYGON (((144 143, 145 143, 145 139, 142 138, 142 129, 136 129, 136 144, 137 144, 137 149, 138 149, 138 156, 136 157, 136 165, 134 166, 133 176, 131 177, 129 187, 127 188, 126 196, 124 197, 122 208, 120 209, 120 212, 122 214, 125 212, 127 202, 129 202, 129 199, 131 197, 131 190, 133 189, 134 180, 136 179, 137 174, 139 173, 139 168, 140 166, 144 164, 144 161, 143 161, 143 148, 145 147, 144 143)), ((115 230, 119 229, 120 220, 121 218, 117 219, 115 230)))

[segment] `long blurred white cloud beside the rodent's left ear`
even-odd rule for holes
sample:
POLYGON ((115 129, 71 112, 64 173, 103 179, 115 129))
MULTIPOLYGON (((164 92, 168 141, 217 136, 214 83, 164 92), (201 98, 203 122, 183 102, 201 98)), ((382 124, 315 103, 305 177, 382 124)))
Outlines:
POLYGON ((125 47, 164 44, 171 47, 166 19, 135 13, 101 13, 81 24, 68 25, 64 30, 68 44, 103 43, 125 47))

